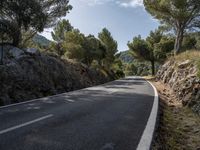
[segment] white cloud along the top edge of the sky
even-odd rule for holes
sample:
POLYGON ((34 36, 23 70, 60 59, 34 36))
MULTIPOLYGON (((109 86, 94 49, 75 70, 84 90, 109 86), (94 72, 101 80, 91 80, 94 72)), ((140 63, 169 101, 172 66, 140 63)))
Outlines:
POLYGON ((105 4, 108 2, 115 2, 122 7, 141 7, 143 6, 143 0, 80 0, 87 3, 90 6, 105 4))

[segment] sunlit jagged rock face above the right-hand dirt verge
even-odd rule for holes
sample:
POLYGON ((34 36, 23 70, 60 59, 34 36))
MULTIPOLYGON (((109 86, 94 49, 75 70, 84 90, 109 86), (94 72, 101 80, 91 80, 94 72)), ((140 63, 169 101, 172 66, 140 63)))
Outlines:
POLYGON ((157 73, 157 80, 168 84, 183 105, 200 114, 200 79, 193 61, 166 62, 157 73))

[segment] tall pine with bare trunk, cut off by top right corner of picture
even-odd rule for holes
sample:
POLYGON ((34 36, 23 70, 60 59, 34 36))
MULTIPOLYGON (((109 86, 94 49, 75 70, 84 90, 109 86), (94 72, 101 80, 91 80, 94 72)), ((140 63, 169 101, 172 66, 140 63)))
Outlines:
POLYGON ((144 0, 146 10, 174 30, 175 54, 181 49, 184 33, 200 27, 199 0, 144 0))

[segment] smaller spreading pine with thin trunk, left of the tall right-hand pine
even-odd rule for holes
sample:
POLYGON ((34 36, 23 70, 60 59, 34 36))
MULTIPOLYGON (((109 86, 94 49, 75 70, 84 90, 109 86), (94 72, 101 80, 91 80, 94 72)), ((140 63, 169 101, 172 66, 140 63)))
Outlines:
POLYGON ((137 36, 133 38, 132 42, 128 42, 128 47, 134 58, 151 63, 152 75, 155 74, 156 62, 163 62, 168 53, 173 50, 173 45, 174 38, 170 35, 163 35, 160 28, 151 31, 146 39, 137 36))

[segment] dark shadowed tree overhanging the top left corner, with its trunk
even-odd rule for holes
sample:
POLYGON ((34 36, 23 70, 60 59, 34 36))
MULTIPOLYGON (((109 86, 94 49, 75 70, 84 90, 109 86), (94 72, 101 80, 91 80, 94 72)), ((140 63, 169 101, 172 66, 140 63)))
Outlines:
POLYGON ((71 9, 69 0, 1 0, 0 19, 9 27, 13 45, 18 46, 22 31, 42 32, 54 26, 71 9))

